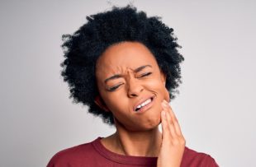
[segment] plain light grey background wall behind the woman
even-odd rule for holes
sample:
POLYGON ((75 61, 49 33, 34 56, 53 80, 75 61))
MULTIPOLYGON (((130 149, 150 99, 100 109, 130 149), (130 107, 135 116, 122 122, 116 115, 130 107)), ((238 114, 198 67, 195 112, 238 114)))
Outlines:
MULTIPOLYGON (((256 2, 131 1, 162 16, 183 46, 183 85, 171 102, 187 146, 220 166, 256 166, 256 2)), ((60 77, 61 35, 130 1, 0 2, 0 162, 45 166, 57 151, 115 131, 72 104, 60 77)))

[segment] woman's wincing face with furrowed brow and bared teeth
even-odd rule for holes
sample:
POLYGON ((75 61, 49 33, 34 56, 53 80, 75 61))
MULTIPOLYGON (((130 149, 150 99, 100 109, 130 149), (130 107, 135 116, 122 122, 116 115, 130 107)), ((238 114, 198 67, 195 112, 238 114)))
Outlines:
POLYGON ((122 42, 109 47, 97 60, 96 77, 107 112, 122 127, 145 131, 159 125, 168 90, 164 74, 144 44, 122 42))

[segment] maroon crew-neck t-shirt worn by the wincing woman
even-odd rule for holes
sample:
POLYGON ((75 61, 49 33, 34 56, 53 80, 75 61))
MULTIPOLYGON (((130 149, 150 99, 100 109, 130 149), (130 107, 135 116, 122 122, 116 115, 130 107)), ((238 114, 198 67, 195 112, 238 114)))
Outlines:
MULTIPOLYGON (((119 155, 108 151, 102 145, 101 137, 95 141, 59 151, 52 157, 47 167, 83 167, 83 166, 115 166, 115 167, 153 167, 157 165, 157 157, 119 155)), ((185 148, 182 167, 217 167, 210 155, 185 148)))

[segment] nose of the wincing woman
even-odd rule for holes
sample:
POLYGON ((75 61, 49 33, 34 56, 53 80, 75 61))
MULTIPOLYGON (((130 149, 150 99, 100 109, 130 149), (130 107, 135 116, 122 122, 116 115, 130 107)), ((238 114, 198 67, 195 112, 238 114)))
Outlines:
POLYGON ((129 97, 137 97, 144 90, 143 86, 141 86, 140 81, 136 81, 135 78, 130 78, 127 81, 127 94, 129 97))

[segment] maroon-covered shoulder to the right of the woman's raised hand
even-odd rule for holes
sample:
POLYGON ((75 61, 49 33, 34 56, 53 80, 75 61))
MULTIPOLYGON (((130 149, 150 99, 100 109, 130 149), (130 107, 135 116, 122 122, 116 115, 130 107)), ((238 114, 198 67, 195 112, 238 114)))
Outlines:
POLYGON ((193 151, 190 148, 185 148, 183 154, 182 166, 204 166, 204 167, 218 167, 214 158, 206 153, 193 151))

